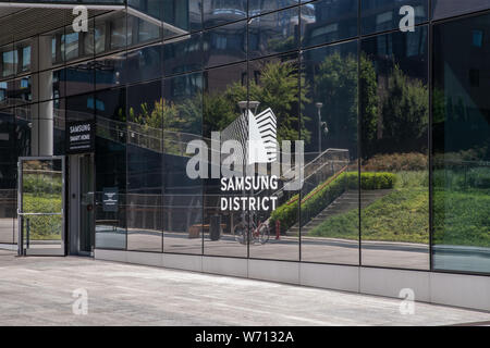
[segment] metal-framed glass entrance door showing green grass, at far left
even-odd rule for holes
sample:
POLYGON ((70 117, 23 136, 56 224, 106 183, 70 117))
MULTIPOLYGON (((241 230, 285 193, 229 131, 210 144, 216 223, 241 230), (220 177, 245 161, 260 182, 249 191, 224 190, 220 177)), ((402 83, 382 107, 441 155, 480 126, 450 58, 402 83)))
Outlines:
POLYGON ((64 158, 19 160, 19 252, 64 256, 64 158))

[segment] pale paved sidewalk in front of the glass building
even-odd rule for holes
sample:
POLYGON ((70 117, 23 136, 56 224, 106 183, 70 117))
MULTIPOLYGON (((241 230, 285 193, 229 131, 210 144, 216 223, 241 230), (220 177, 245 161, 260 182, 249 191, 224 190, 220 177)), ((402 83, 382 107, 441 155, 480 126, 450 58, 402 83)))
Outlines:
POLYGON ((0 250, 0 325, 451 325, 490 313, 83 258, 0 250), (73 314, 86 289, 88 314, 73 314))

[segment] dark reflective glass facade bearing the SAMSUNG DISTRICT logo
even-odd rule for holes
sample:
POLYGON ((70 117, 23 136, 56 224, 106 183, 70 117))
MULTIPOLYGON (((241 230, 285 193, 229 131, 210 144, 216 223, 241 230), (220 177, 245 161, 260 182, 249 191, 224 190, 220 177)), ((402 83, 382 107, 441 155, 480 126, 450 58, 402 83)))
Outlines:
POLYGON ((128 0, 87 33, 3 39, 0 243, 38 125, 65 154, 65 123, 93 120, 96 248, 488 274, 489 23, 483 0, 128 0), (257 181, 304 153, 302 185, 188 176, 189 144, 225 160, 244 134, 268 149, 257 181))

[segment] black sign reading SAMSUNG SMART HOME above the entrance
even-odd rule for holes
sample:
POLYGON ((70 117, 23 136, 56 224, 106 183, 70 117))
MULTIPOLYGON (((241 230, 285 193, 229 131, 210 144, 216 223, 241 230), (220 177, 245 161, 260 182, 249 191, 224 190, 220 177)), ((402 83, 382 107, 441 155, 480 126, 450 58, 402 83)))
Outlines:
POLYGON ((66 124, 66 153, 94 152, 94 121, 77 121, 66 124))

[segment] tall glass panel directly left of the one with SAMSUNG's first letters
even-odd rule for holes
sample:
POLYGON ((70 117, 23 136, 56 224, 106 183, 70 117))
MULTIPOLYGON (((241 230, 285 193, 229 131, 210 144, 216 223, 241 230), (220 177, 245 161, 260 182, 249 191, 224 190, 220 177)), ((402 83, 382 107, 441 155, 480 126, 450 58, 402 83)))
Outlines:
POLYGON ((203 179, 187 176, 189 141, 203 139, 203 74, 163 80, 166 252, 203 253, 203 179))

